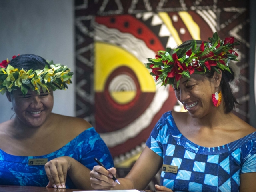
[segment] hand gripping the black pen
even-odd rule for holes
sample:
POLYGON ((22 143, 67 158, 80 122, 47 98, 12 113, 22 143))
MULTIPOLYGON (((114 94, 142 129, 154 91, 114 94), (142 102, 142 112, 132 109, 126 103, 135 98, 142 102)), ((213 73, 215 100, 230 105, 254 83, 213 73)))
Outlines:
MULTIPOLYGON (((116 169, 114 167, 108 170, 116 176, 116 169)), ((116 186, 116 182, 112 179, 113 176, 102 166, 94 166, 90 176, 91 186, 96 190, 112 190, 116 186)))

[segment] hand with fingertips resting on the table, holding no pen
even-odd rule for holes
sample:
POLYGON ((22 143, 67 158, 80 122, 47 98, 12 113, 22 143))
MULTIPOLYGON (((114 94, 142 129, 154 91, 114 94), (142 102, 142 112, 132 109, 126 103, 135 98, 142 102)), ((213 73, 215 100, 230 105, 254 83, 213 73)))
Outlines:
POLYGON ((44 165, 46 175, 49 179, 49 183, 46 187, 66 188, 67 173, 71 165, 72 158, 68 156, 58 157, 47 162, 44 165))

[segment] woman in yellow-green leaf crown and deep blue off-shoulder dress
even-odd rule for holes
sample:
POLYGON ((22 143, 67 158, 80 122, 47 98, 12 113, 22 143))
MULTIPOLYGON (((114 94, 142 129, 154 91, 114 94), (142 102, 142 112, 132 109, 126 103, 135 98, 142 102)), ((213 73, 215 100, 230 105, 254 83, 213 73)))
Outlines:
POLYGON ((0 185, 91 189, 89 172, 113 160, 90 123, 52 113, 53 92, 66 89, 67 66, 32 54, 0 63, 0 92, 15 117, 0 124, 0 185))

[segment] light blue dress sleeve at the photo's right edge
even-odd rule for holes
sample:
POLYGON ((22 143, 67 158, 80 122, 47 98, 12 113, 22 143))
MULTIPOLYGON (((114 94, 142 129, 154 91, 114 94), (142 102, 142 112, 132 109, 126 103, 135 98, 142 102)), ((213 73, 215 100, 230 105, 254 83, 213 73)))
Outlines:
POLYGON ((244 163, 241 173, 256 172, 256 140, 251 140, 246 144, 245 153, 242 154, 244 163))

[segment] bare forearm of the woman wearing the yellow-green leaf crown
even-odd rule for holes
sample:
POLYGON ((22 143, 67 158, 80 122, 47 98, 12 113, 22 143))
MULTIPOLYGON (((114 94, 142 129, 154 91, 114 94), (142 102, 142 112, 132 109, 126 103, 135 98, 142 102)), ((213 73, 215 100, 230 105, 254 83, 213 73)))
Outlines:
POLYGON ((74 158, 70 158, 70 161, 71 167, 68 170, 68 175, 76 188, 93 190, 90 183, 90 169, 88 169, 86 166, 84 166, 74 158))

